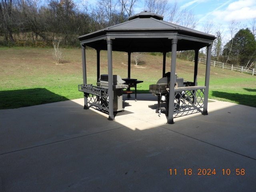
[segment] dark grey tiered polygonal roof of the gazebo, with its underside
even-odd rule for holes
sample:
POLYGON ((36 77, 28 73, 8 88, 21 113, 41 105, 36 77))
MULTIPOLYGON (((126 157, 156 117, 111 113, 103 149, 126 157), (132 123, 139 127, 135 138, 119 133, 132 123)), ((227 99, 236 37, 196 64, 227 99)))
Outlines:
POLYGON ((79 37, 81 45, 107 50, 106 39, 113 40, 112 49, 124 52, 170 52, 171 40, 178 39, 177 50, 198 50, 212 44, 215 36, 163 21, 148 11, 129 17, 127 22, 79 37))

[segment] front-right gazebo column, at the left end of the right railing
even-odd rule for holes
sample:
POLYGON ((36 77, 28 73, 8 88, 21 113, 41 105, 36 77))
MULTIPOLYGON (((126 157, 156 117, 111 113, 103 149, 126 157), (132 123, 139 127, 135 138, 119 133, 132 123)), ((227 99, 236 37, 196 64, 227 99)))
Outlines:
POLYGON ((178 39, 172 39, 172 60, 171 60, 171 75, 170 75, 170 90, 169 90, 169 106, 168 106, 168 124, 174 124, 174 86, 175 86, 175 71, 176 71, 176 52, 178 39))

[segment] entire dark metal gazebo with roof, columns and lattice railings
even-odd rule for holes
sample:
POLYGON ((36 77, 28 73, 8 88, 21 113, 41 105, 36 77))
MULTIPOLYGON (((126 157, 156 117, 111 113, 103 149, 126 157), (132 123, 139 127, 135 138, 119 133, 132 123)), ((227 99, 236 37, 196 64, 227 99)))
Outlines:
MULTIPOLYGON (((112 77, 112 51, 128 53, 128 78, 130 78, 132 52, 162 52, 163 76, 166 71, 166 53, 172 52, 170 65, 170 82, 176 80, 176 52, 182 50, 195 51, 194 82, 192 86, 177 88, 170 84, 169 112, 167 122, 173 124, 173 118, 184 112, 200 111, 207 115, 208 90, 210 77, 210 60, 212 43, 215 36, 163 21, 163 16, 148 11, 130 16, 127 22, 110 26, 103 30, 79 37, 82 47, 83 84, 78 89, 84 92, 84 108, 91 105, 108 111, 109 120, 114 120, 113 112, 113 78, 108 79, 108 88, 100 88, 87 84, 86 46, 97 51, 97 79, 100 78, 100 50, 108 52, 108 77, 112 77), (198 52, 207 47, 205 85, 197 86, 198 52), (181 92, 189 92, 190 105, 175 110, 175 100, 181 92), (93 96, 94 97, 93 97, 93 96), (192 95, 192 96, 191 96, 192 95), (97 99, 93 99, 97 98, 97 99), (97 102, 103 98, 107 102, 97 102), (198 98, 200 101, 198 101, 198 98)), ((181 96, 181 94, 180 94, 181 96)))

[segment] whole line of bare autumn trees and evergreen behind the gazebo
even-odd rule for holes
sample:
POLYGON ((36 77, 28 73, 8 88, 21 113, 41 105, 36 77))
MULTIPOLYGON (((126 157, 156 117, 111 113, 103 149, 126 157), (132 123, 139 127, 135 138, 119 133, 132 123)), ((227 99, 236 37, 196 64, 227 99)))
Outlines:
MULTIPOLYGON (((79 46, 78 36, 101 30, 128 20, 136 8, 164 16, 164 20, 196 28, 198 20, 193 10, 181 9, 177 2, 168 0, 0 0, 0 45, 52 46, 60 40, 62 46, 79 46)), ((251 65, 256 59, 256 18, 251 26, 240 29, 230 22, 231 40, 223 42, 223 29, 210 19, 202 31, 214 34, 212 54, 216 61, 251 65)), ((203 52, 203 50, 202 50, 203 52)), ((180 57, 193 57, 182 52, 180 57)))

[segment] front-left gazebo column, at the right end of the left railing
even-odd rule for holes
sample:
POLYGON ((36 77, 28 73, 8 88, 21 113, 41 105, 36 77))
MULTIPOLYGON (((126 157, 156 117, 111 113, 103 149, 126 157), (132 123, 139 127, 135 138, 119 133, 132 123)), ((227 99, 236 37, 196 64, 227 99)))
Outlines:
POLYGON ((113 72, 112 72, 112 40, 107 38, 108 49, 108 120, 114 120, 114 106, 113 106, 113 72))

